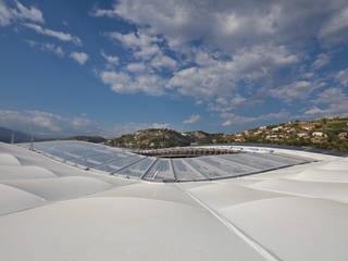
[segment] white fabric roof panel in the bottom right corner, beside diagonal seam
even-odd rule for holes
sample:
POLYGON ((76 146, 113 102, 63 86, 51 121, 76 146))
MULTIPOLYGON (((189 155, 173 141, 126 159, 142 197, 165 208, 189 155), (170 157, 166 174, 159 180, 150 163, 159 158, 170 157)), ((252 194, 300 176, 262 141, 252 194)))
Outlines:
POLYGON ((287 197, 233 206, 222 213, 279 260, 348 258, 347 204, 287 197))

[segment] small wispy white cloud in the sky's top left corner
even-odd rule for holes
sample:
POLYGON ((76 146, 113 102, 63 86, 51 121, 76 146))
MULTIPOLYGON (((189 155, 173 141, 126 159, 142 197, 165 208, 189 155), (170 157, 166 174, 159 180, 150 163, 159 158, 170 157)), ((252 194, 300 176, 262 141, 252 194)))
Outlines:
POLYGON ((42 12, 35 7, 26 8, 20 1, 14 1, 15 7, 10 8, 0 0, 0 26, 5 26, 14 21, 32 21, 45 23, 42 12))

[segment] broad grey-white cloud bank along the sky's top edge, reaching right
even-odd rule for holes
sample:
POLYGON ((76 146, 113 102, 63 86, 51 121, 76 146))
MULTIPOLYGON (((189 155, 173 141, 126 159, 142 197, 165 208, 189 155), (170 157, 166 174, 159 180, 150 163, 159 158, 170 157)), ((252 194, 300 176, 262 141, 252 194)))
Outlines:
POLYGON ((172 48, 203 39, 232 51, 265 41, 324 40, 337 30, 345 32, 346 9, 345 0, 120 0, 109 10, 95 9, 91 13, 150 26, 156 34, 164 35, 172 48))

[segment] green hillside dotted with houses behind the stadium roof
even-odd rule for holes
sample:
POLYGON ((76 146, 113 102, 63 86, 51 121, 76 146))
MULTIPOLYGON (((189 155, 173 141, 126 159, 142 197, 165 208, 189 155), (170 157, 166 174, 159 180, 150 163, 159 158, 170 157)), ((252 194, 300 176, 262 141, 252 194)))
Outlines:
POLYGON ((348 151, 348 119, 287 122, 228 135, 149 128, 107 141, 111 146, 152 149, 225 142, 277 144, 348 151))

